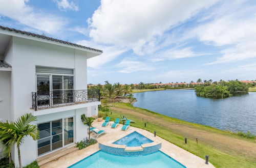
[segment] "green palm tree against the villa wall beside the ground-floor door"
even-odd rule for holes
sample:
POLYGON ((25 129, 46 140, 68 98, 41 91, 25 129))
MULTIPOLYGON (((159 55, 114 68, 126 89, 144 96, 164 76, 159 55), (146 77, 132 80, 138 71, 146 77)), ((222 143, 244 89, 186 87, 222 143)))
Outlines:
POLYGON ((29 113, 18 118, 15 122, 8 123, 7 121, 0 126, 0 141, 3 142, 5 139, 9 139, 6 145, 16 144, 17 146, 20 168, 22 167, 20 145, 24 143, 24 138, 31 136, 34 141, 39 138, 39 129, 36 125, 30 124, 33 121, 36 121, 36 117, 29 113))

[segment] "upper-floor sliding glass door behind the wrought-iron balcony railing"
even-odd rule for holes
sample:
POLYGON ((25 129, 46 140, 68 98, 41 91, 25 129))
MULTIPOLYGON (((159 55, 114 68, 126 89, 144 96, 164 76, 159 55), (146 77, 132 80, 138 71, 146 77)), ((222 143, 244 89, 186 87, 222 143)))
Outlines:
POLYGON ((74 70, 36 66, 37 105, 57 105, 74 101, 74 70))

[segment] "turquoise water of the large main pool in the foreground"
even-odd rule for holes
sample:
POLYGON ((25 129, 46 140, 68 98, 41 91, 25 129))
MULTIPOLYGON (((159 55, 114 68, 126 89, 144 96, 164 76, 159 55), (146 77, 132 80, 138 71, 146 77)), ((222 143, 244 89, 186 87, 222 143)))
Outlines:
POLYGON ((111 154, 99 151, 71 165, 70 168, 71 167, 72 168, 82 168, 82 167, 184 168, 185 166, 160 151, 150 155, 141 155, 136 157, 117 156, 117 155, 111 155, 111 154))

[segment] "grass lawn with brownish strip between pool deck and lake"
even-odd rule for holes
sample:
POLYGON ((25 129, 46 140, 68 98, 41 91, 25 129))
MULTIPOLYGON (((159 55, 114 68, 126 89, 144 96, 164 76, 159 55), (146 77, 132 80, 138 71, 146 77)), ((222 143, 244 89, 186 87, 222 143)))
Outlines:
MULTIPOLYGON (((111 103, 111 120, 120 118, 120 115, 134 120, 131 125, 157 135, 167 141, 201 157, 209 155, 209 161, 216 167, 255 167, 256 142, 232 132, 222 131, 200 124, 194 124, 170 118, 129 103, 111 103), (146 127, 144 127, 144 123, 146 127), (184 143, 187 137, 188 143, 184 143), (198 145, 196 143, 198 138, 198 145)), ((99 111, 100 114, 103 114, 99 111)), ((170 149, 172 150, 172 149, 170 149)))

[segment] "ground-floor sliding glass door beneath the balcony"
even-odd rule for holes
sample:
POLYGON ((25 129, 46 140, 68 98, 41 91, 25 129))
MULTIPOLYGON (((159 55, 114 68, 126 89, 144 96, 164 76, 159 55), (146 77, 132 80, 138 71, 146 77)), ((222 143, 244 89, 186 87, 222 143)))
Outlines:
POLYGON ((37 127, 39 129, 38 156, 74 142, 73 117, 40 123, 37 127))

